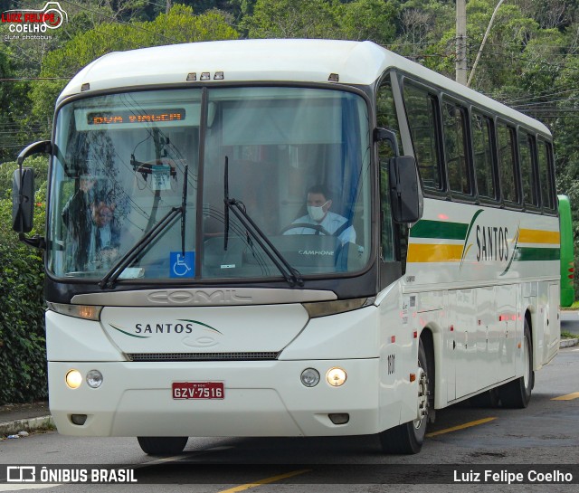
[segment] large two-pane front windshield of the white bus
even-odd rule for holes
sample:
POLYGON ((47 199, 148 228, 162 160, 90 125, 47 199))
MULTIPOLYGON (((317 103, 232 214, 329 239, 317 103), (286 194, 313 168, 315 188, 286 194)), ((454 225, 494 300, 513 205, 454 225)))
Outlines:
POLYGON ((304 277, 351 274, 369 261, 371 139, 356 93, 97 96, 62 106, 55 143, 47 231, 55 277, 100 280, 135 245, 119 280, 277 279, 278 255, 304 277))

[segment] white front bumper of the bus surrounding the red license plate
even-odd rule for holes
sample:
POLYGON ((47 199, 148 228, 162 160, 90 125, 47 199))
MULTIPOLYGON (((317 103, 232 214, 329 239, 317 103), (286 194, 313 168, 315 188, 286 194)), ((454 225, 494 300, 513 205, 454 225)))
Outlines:
POLYGON ((50 408, 58 431, 79 436, 330 436, 376 433, 379 360, 135 363, 49 362, 50 408), (346 383, 326 381, 334 367, 346 383), (300 374, 315 368, 320 382, 300 374), (99 370, 103 382, 77 389, 65 383, 76 369, 99 370), (223 382, 223 399, 174 399, 174 382, 223 382), (349 415, 334 424, 331 414, 349 415), (72 415, 86 414, 84 424, 72 415), (78 421, 78 420, 77 420, 78 421))

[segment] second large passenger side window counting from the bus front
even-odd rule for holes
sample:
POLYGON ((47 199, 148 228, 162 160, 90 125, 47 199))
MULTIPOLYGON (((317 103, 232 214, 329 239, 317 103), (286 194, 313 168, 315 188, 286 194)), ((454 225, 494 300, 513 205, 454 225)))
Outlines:
POLYGON ((467 161, 466 109, 450 101, 442 104, 442 132, 444 158, 452 192, 471 194, 470 173, 467 161))

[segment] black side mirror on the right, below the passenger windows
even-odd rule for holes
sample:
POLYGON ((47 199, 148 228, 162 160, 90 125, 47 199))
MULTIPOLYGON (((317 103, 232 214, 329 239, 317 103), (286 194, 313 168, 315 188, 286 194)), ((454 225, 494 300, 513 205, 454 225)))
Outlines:
POLYGON ((395 223, 416 223, 422 217, 422 189, 413 156, 396 156, 389 163, 390 202, 395 223))

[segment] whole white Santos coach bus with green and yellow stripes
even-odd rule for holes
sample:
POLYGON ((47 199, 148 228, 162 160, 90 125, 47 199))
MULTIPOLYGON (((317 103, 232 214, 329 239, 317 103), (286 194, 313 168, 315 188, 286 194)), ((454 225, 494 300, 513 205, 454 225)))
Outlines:
POLYGON ((45 248, 58 430, 377 434, 527 406, 559 341, 552 137, 374 43, 114 52, 56 103, 45 248))

